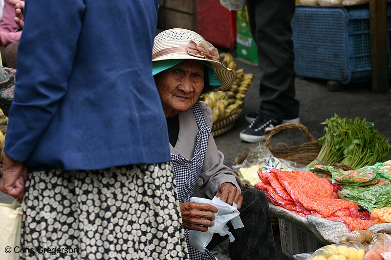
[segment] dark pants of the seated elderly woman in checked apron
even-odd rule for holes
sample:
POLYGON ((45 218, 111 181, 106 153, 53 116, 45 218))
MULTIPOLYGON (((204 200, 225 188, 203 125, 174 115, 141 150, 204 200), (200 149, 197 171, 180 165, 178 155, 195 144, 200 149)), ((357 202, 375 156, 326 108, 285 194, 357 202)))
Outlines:
MULTIPOLYGON (((235 237, 235 241, 229 243, 230 258, 276 260, 269 206, 264 192, 244 189, 242 196, 244 200, 239 212, 244 227, 233 229, 231 222, 228 222, 228 228, 235 237)), ((227 238, 228 235, 222 237, 215 234, 206 248, 212 250, 227 238)))

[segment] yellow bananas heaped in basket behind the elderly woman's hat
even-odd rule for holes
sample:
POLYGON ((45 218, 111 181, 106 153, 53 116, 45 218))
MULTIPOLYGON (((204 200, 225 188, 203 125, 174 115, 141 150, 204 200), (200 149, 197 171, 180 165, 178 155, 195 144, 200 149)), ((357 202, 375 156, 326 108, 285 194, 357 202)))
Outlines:
POLYGON ((237 70, 237 63, 230 53, 220 54, 219 60, 224 66, 235 71, 236 79, 228 90, 203 95, 202 101, 212 108, 214 123, 234 115, 243 107, 244 97, 254 80, 253 74, 245 74, 244 69, 237 70))

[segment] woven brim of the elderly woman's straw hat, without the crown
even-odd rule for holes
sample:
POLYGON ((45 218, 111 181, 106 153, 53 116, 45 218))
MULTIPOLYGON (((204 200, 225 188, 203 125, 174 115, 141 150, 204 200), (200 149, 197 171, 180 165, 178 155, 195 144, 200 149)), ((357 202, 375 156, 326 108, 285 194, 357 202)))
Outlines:
POLYGON ((213 69, 215 70, 216 78, 220 81, 221 86, 212 90, 212 91, 220 91, 220 90, 227 90, 231 87, 232 83, 235 81, 235 72, 227 67, 225 67, 223 64, 221 64, 218 61, 215 60, 208 60, 203 58, 198 58, 195 56, 190 55, 187 52, 175 52, 175 53, 169 53, 162 56, 159 56, 156 59, 153 59, 152 61, 157 60, 202 60, 208 62, 213 69))

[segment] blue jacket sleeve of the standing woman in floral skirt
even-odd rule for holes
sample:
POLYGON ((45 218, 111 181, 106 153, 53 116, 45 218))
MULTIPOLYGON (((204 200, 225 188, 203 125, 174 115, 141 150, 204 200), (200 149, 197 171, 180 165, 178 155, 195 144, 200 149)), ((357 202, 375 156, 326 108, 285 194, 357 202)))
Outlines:
POLYGON ((29 158, 67 91, 84 9, 83 0, 29 1, 25 5, 4 147, 14 160, 29 158))

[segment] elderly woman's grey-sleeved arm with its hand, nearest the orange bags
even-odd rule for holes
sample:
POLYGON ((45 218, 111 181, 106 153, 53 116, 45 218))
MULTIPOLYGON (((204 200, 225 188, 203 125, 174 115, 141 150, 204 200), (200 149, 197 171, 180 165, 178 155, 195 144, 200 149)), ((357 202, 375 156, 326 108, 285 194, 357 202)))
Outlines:
MULTIPOLYGON (((206 114, 205 120, 212 128, 212 110, 205 103, 201 103, 201 108, 204 115, 206 114)), ((201 193, 206 198, 211 199, 216 195, 217 197, 220 197, 221 200, 226 201, 229 204, 232 204, 232 202, 239 202, 241 204, 240 180, 231 168, 224 165, 224 155, 217 150, 217 146, 212 135, 209 137, 200 178, 203 181, 200 187, 201 193)))

